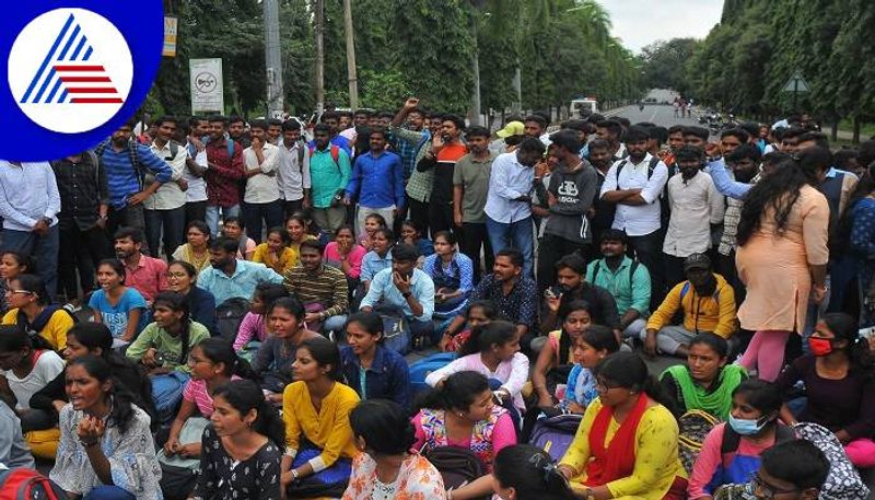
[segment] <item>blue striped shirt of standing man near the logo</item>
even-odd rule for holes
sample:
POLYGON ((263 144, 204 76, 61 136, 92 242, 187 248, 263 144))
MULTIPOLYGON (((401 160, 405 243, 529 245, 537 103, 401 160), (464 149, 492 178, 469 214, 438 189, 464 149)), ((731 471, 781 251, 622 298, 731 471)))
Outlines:
MULTIPOLYGON (((137 159, 140 165, 155 174, 155 182, 170 182, 173 170, 148 146, 137 144, 137 159)), ((107 146, 101 155, 101 162, 106 171, 109 205, 115 209, 122 209, 128 205, 128 198, 143 188, 137 168, 130 164, 128 146, 125 144, 121 151, 116 151, 112 144, 107 146)))

